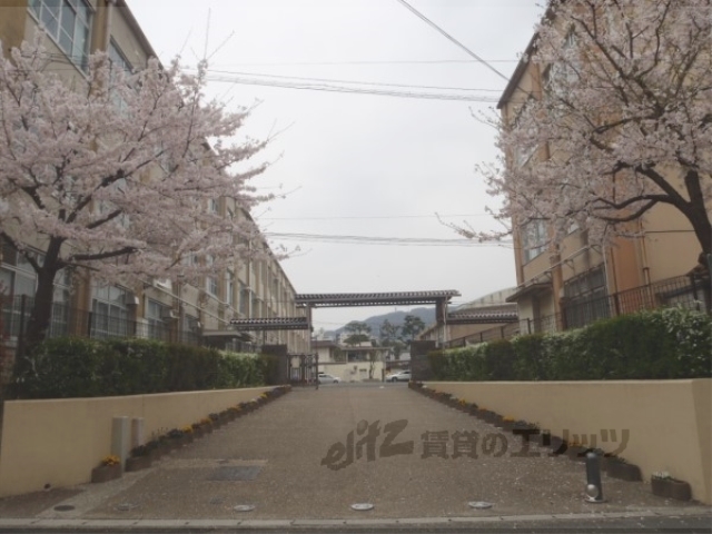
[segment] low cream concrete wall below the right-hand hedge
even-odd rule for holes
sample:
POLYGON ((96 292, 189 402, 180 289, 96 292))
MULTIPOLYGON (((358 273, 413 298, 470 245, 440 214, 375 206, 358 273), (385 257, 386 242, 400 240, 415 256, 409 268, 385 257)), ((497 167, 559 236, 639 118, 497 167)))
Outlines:
MULTIPOLYGON (((536 423, 563 437, 597 435, 597 446, 640 466, 685 481, 693 498, 712 504, 712 379, 615 382, 427 383, 503 416, 536 423), (609 431, 603 443, 601 431, 609 431), (616 431, 612 443, 610 431, 616 431)), ((591 441, 589 441, 591 443, 591 441)))

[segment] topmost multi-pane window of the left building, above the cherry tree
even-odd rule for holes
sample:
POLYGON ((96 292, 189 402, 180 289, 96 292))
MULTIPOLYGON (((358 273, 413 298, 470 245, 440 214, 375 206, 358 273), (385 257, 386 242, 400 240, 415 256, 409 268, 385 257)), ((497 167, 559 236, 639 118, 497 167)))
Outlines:
POLYGON ((86 70, 91 28, 89 4, 85 0, 30 0, 29 6, 59 48, 86 70))

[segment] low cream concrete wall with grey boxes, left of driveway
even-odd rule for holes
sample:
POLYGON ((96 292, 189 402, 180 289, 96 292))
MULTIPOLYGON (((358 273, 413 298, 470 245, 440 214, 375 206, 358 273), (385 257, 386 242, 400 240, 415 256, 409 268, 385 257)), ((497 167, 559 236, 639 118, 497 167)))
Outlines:
POLYGON ((90 481, 111 453, 113 417, 142 417, 145 437, 199 422, 269 387, 126 397, 9 400, 0 444, 0 497, 90 481))

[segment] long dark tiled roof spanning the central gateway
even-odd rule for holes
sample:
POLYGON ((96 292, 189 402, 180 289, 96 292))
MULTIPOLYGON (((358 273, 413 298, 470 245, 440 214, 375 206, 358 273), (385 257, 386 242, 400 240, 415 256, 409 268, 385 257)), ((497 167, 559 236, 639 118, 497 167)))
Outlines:
POLYGON ((434 304, 459 297, 459 291, 402 291, 402 293, 326 293, 296 295, 297 305, 319 306, 389 306, 434 304))

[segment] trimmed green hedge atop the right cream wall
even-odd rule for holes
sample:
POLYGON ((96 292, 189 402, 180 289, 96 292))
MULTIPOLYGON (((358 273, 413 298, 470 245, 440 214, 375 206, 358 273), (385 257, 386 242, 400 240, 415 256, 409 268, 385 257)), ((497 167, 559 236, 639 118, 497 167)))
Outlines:
POLYGON ((712 377, 712 319, 682 308, 600 320, 428 355, 438 380, 614 380, 712 377))

